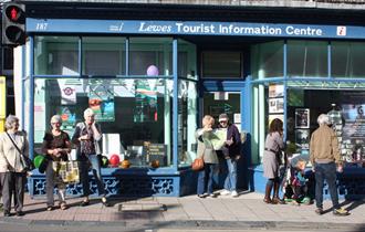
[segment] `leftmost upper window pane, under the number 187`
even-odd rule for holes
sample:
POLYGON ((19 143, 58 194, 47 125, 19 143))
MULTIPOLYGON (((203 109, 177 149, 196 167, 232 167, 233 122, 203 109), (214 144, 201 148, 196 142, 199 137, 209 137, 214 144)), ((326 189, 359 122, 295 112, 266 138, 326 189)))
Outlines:
POLYGON ((35 75, 77 75, 79 38, 35 36, 35 75))

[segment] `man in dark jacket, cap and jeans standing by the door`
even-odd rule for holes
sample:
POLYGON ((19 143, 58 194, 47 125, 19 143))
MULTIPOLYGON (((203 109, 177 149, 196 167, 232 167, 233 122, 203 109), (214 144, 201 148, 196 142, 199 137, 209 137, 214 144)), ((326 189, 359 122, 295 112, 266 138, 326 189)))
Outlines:
POLYGON ((227 130, 226 145, 221 152, 227 162, 228 175, 225 180, 225 189, 220 194, 231 194, 233 198, 237 193, 237 160, 241 157, 241 136, 238 128, 229 123, 227 114, 219 115, 219 128, 227 130))

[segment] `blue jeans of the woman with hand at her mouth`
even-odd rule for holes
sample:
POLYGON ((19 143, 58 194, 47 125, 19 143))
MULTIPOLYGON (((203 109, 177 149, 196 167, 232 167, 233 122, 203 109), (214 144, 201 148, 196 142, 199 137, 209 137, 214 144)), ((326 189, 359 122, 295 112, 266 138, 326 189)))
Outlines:
POLYGON ((105 189, 104 189, 101 167, 102 167, 101 158, 97 155, 88 155, 87 157, 86 156, 80 157, 80 169, 81 169, 80 175, 81 175, 81 183, 82 183, 84 197, 87 197, 91 193, 93 193, 90 190, 90 180, 88 180, 90 169, 92 170, 93 176, 95 178, 98 196, 105 197, 105 189))

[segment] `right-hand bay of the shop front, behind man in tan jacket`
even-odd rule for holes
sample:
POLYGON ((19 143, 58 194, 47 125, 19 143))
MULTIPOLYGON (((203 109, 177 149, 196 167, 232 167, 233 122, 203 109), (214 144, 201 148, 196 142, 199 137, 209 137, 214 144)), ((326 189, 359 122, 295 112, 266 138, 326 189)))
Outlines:
MULTIPOLYGON (((286 151, 293 160, 309 161, 311 134, 319 127, 316 119, 327 114, 345 165, 344 172, 338 173, 340 194, 352 199, 365 196, 364 45, 363 41, 284 40, 254 48, 260 51, 254 59, 267 61, 257 63, 252 80, 259 106, 254 114, 264 115, 253 117, 252 135, 259 141, 259 154, 270 122, 280 118, 284 122, 286 151)), ((263 191, 261 165, 252 170, 254 188, 263 191)))

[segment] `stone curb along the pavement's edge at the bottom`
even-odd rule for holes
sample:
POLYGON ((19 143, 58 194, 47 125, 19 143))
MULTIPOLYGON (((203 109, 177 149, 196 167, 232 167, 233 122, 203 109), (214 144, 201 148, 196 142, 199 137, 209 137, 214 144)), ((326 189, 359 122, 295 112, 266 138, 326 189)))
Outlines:
POLYGON ((300 222, 300 221, 64 221, 0 219, 1 223, 50 226, 118 226, 121 229, 240 229, 240 230, 351 230, 365 231, 365 223, 300 222))

